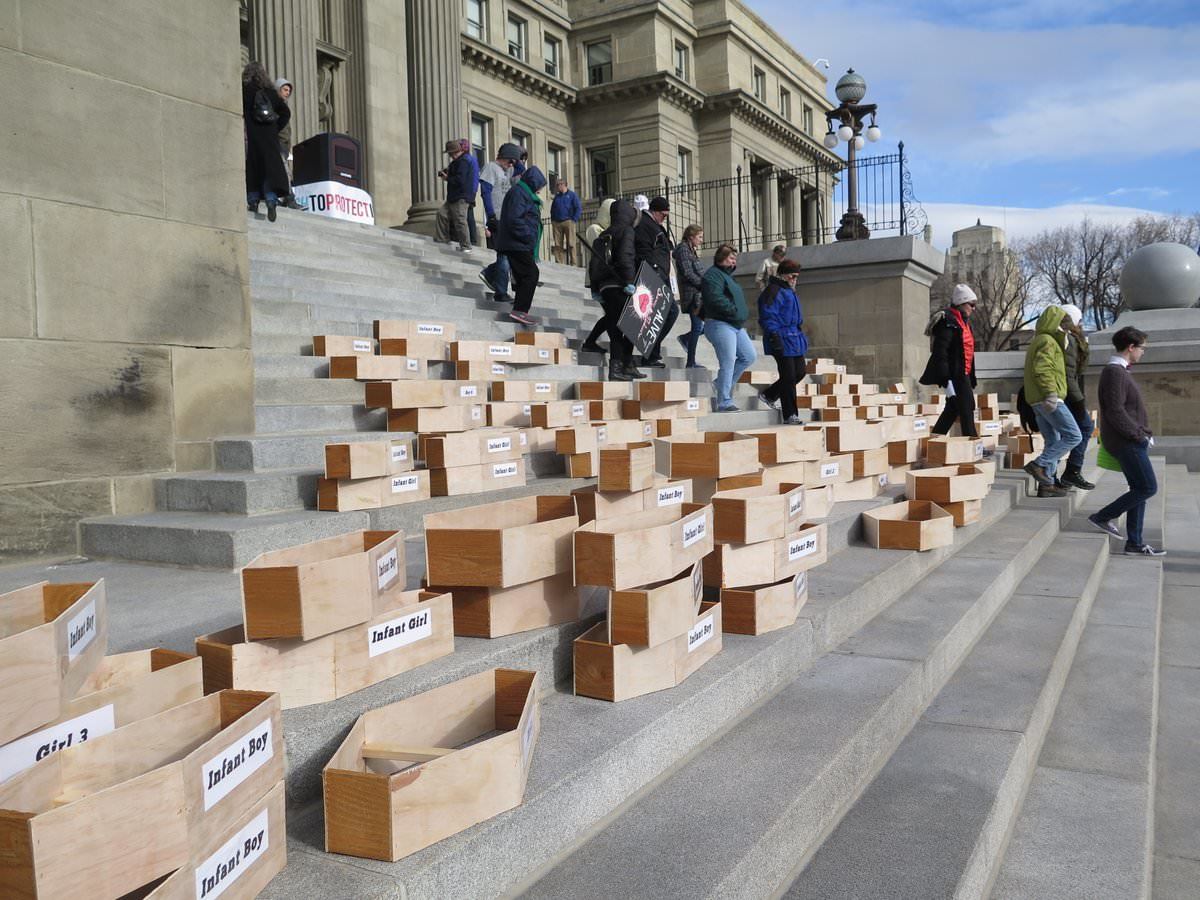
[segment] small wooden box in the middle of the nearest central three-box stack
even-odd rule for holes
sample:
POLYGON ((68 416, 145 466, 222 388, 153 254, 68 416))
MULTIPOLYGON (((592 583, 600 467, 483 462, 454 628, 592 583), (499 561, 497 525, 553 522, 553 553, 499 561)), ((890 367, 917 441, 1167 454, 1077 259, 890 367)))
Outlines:
POLYGON ((704 599, 703 566, 692 563, 679 575, 630 590, 608 593, 612 643, 656 647, 674 641, 696 623, 704 599))

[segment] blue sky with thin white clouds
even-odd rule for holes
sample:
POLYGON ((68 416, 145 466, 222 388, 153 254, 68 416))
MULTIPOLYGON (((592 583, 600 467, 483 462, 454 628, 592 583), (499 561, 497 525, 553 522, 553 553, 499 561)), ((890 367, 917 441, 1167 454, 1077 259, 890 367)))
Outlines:
MULTIPOLYGON (((904 140, 934 242, 1200 210, 1200 2, 746 0, 808 60, 850 67, 904 140)), ((821 66, 822 72, 824 67, 821 66)))

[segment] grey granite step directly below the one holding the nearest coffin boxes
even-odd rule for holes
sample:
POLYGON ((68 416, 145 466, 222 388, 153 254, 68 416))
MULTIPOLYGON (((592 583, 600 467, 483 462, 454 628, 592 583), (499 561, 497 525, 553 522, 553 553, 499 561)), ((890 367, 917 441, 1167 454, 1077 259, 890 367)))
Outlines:
MULTIPOLYGON (((989 505, 997 498, 1010 500, 994 493, 989 505)), ((761 898, 786 886, 1042 556, 1057 522, 1014 510, 982 523, 974 540, 964 530, 955 536, 967 542, 956 541, 953 556, 886 552, 895 565, 923 571, 881 572, 866 590, 890 598, 870 604, 866 623, 838 652, 786 679, 526 895, 586 896, 588 884, 604 883, 610 896, 761 898)), ((822 584, 832 568, 815 571, 811 583, 822 584)))

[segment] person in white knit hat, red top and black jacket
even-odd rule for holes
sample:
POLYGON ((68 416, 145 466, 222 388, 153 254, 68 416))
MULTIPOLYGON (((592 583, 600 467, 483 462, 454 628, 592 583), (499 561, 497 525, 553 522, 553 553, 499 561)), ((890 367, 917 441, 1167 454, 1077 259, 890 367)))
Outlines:
POLYGON ((974 334, 971 331, 971 313, 978 298, 967 284, 955 284, 950 305, 938 310, 929 320, 929 362, 918 379, 920 384, 942 388, 946 391, 946 408, 934 422, 934 434, 949 434, 954 422, 959 422, 962 437, 974 438, 974 334))

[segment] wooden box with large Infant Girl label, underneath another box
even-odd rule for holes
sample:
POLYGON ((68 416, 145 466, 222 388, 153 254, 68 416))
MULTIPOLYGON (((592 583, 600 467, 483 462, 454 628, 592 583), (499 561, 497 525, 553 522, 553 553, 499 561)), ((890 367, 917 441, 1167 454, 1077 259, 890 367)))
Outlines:
POLYGON ((246 641, 240 625, 196 638, 204 689, 280 695, 283 709, 325 703, 454 652, 450 595, 397 590, 370 622, 312 641, 246 641))

